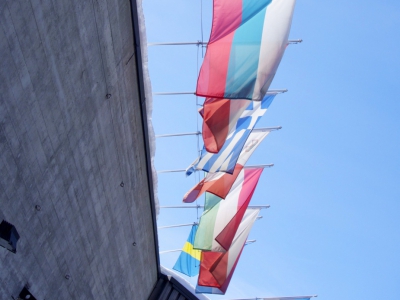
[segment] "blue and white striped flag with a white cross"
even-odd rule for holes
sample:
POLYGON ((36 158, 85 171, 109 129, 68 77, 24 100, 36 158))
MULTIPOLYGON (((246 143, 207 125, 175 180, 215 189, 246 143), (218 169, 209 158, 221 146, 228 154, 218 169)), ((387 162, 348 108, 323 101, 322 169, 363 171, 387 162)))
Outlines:
POLYGON ((250 133, 258 120, 267 111, 274 97, 275 95, 267 95, 262 101, 252 101, 240 116, 236 130, 229 134, 221 150, 214 154, 203 148, 200 157, 186 170, 186 175, 189 176, 195 170, 203 170, 209 173, 226 172, 232 174, 250 133))

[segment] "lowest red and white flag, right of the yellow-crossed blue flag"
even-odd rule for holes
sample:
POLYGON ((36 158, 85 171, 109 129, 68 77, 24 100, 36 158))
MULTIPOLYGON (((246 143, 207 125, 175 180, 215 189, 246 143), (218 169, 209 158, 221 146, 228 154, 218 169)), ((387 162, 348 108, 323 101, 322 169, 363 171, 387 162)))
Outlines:
MULTIPOLYGON (((202 252, 198 286, 217 288, 222 294, 225 294, 259 212, 259 208, 246 211, 228 251, 202 252)), ((198 289, 196 288, 196 290, 198 289)))

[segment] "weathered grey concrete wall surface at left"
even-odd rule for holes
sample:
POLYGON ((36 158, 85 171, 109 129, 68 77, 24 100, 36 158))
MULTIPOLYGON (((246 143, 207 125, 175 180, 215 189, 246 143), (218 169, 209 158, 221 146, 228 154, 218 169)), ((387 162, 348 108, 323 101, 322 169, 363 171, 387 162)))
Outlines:
POLYGON ((0 217, 21 236, 0 248, 1 298, 28 283, 146 299, 158 249, 129 1, 2 0, 0 25, 0 217))

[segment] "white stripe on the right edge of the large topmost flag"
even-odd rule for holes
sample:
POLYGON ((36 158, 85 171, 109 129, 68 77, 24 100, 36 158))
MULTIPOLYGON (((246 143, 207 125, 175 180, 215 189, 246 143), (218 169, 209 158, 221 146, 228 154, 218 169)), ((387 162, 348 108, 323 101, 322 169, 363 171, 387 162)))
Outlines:
POLYGON ((267 6, 253 100, 262 100, 286 49, 296 0, 273 0, 267 6))

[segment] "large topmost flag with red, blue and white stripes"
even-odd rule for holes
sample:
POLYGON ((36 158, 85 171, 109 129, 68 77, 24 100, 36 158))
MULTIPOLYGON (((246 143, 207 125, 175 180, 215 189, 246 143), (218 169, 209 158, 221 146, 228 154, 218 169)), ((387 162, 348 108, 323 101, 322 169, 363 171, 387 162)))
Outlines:
POLYGON ((196 95, 261 100, 288 43, 295 0, 214 0, 196 95))

